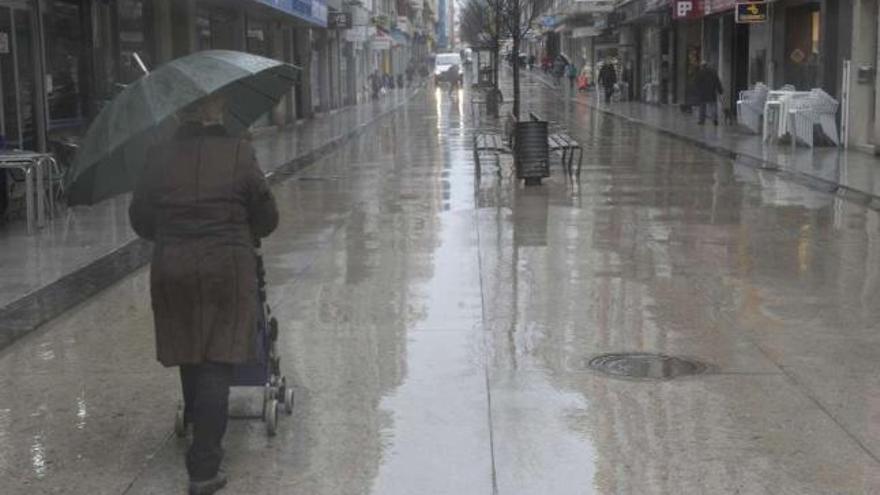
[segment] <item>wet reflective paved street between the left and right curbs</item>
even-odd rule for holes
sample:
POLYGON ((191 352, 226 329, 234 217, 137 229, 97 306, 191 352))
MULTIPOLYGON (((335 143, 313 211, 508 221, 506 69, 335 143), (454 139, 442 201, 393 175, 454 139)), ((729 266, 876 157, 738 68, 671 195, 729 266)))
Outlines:
MULTIPOLYGON (((880 492, 878 213, 524 95, 580 183, 475 176, 467 96, 439 92, 277 184, 296 411, 232 423, 223 493, 880 492), (620 352, 708 369, 590 368, 620 352)), ((142 270, 0 351, 0 493, 183 492, 151 318, 142 270)))

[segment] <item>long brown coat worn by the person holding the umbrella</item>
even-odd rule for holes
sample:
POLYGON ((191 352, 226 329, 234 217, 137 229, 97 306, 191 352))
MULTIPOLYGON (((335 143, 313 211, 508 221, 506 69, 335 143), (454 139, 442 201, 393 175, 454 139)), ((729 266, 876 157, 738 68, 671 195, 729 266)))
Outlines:
POLYGON ((256 357, 254 238, 278 209, 247 140, 186 124, 151 150, 129 218, 155 241, 150 293, 156 351, 165 366, 256 357))

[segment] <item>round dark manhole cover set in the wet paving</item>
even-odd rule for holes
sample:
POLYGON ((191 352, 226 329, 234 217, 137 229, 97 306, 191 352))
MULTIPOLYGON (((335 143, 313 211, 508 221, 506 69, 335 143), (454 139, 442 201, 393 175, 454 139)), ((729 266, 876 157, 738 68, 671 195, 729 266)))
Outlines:
POLYGON ((671 380, 709 369, 699 361, 645 352, 603 354, 591 359, 589 367, 611 376, 646 380, 671 380))

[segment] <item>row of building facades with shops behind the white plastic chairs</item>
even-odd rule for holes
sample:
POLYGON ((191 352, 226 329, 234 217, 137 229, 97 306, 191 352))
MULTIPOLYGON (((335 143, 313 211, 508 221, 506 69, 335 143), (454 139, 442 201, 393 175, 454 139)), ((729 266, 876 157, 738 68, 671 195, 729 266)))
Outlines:
POLYGON ((595 68, 614 63, 624 98, 686 105, 702 61, 719 73, 723 104, 736 111, 738 92, 822 88, 841 102, 841 128, 851 147, 880 145, 880 8, 878 0, 553 0, 540 22, 537 56, 572 55, 595 68), (760 15, 738 22, 737 9, 760 15), (583 14, 578 14, 578 12, 583 14), (586 60, 589 60, 587 62, 586 60))

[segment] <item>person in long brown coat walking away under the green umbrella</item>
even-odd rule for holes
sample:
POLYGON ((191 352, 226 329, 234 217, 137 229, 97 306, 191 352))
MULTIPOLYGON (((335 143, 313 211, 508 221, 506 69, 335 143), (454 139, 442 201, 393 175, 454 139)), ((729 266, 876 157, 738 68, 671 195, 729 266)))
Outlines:
POLYGON ((184 424, 193 426, 191 495, 226 485, 220 463, 233 368, 258 357, 254 240, 278 225, 254 148, 222 125, 225 106, 209 97, 181 115, 174 139, 147 153, 129 209, 134 231, 155 242, 156 353, 180 368, 184 424))

